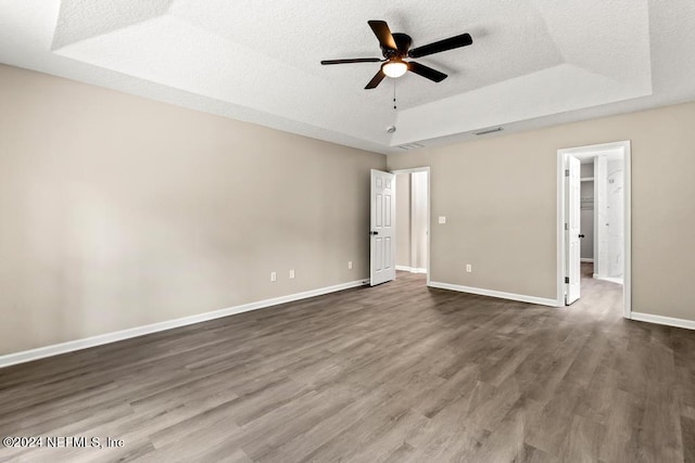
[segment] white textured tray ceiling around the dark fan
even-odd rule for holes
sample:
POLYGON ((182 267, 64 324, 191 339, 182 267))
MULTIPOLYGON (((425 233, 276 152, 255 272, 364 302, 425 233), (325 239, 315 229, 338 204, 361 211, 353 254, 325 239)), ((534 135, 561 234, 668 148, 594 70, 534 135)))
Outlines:
POLYGON ((693 30, 692 0, 0 0, 0 62, 388 154, 692 100, 693 30), (368 20, 473 44, 367 91, 319 61, 380 56, 368 20))

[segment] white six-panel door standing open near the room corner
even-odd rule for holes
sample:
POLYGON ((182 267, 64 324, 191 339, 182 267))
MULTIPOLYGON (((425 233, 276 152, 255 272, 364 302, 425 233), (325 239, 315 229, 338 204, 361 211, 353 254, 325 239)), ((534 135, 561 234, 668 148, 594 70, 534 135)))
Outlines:
POLYGON ((395 175, 371 170, 371 286, 395 279, 395 175))

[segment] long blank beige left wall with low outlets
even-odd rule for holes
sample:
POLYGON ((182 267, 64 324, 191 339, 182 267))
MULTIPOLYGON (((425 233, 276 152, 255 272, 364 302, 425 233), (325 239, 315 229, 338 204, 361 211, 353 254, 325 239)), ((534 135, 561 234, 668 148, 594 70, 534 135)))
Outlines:
POLYGON ((0 102, 0 355, 368 278, 382 155, 4 65, 0 102))

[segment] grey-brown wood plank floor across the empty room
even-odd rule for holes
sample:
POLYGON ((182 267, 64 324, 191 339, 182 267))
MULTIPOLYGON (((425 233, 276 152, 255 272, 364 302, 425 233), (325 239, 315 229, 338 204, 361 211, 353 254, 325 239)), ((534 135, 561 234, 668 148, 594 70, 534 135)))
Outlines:
POLYGON ((585 278, 566 309, 356 288, 0 370, 0 461, 695 461, 695 332, 626 321, 585 278))

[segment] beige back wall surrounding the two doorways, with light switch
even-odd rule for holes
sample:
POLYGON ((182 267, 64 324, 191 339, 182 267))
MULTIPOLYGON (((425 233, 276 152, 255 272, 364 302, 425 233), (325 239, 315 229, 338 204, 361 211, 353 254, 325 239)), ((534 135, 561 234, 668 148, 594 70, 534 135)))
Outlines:
POLYGON ((632 309, 695 320, 693 127, 687 103, 392 155, 388 164, 431 166, 432 281, 555 298, 557 150, 631 140, 632 309))

